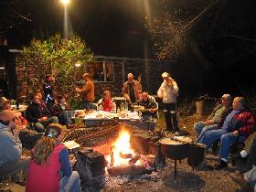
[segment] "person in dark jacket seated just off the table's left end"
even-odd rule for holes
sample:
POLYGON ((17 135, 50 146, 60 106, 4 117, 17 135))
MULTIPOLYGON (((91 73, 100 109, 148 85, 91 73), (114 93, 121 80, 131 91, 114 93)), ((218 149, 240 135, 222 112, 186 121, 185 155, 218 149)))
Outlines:
POLYGON ((62 125, 71 125, 71 117, 74 115, 74 111, 71 111, 71 107, 66 100, 66 97, 59 96, 58 101, 55 101, 53 106, 53 113, 58 116, 59 123, 62 125))

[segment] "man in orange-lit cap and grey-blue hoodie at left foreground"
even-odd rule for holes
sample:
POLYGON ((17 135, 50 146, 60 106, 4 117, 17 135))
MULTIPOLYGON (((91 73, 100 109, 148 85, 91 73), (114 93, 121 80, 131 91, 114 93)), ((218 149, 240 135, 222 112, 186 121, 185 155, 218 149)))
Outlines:
POLYGON ((0 179, 28 168, 29 161, 21 159, 22 144, 17 125, 20 115, 10 110, 0 112, 0 179))

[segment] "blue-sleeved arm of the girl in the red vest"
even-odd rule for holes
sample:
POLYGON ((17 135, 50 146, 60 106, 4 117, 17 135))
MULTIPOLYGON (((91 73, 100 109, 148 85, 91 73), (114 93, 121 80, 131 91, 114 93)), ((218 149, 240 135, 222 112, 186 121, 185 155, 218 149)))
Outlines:
POLYGON ((59 162, 61 164, 61 171, 63 176, 71 176, 72 169, 69 162, 69 152, 66 148, 62 149, 59 153, 59 162))

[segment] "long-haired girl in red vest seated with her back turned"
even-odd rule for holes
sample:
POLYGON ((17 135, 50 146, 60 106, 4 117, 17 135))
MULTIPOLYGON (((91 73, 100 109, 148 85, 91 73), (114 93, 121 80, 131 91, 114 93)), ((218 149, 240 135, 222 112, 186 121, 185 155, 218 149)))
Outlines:
POLYGON ((31 156, 26 182, 26 191, 74 191, 80 192, 80 176, 72 171, 76 158, 69 158, 64 144, 63 128, 59 123, 48 125, 31 156))

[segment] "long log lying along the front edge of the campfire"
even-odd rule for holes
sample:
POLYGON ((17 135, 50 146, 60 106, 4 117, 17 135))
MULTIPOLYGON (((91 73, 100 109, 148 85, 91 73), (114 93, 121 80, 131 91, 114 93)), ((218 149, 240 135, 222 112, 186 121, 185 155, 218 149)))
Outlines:
POLYGON ((113 166, 109 167, 107 170, 110 176, 141 176, 151 174, 153 171, 146 169, 143 165, 113 166))

